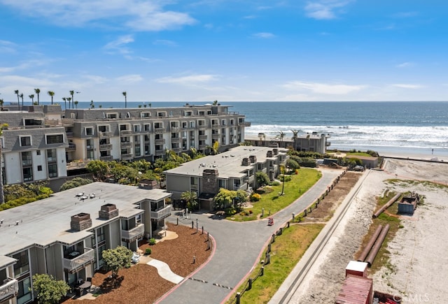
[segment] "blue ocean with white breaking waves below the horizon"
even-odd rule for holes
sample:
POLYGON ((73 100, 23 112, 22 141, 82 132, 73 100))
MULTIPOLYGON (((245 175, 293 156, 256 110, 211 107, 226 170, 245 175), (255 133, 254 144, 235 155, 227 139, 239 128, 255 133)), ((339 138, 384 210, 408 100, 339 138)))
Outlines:
MULTIPOLYGON (((151 107, 204 105, 206 102, 151 102, 151 107)), ((448 160, 448 102, 222 102, 230 110, 246 115, 246 136, 265 133, 274 138, 279 131, 291 138, 300 133, 330 135, 332 150, 374 150, 389 154, 421 154, 448 160)), ((123 102, 95 102, 95 108, 124 107, 123 102)), ((128 108, 150 106, 149 102, 127 102, 128 108)), ((78 103, 90 108, 90 102, 78 103)))

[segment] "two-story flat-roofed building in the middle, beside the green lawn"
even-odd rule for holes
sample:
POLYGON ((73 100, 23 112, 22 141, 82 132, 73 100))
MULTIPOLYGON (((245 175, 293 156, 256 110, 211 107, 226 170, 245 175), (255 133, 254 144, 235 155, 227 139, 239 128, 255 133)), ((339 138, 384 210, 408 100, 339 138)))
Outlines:
POLYGON ((274 180, 280 173, 280 164, 284 164, 287 157, 287 150, 283 148, 238 146, 165 171, 167 191, 176 200, 183 192, 195 191, 202 208, 211 210, 213 206, 209 198, 219 189, 255 189, 258 187, 255 173, 262 171, 274 180))

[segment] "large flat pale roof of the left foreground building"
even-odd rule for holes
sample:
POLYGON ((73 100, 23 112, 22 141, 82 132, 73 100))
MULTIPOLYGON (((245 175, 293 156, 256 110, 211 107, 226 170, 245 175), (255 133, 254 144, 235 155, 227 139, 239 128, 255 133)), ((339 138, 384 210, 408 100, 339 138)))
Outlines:
MULTIPOLYGON (((31 245, 46 246, 56 241, 71 244, 89 236, 88 231, 71 231, 73 215, 90 214, 92 227, 101 226, 113 220, 99 219, 102 205, 114 204, 119 217, 131 217, 143 213, 136 209, 140 201, 160 201, 169 197, 162 189, 139 189, 137 187, 106 182, 93 182, 85 186, 52 194, 49 198, 0 211, 0 256, 17 252, 31 245), (94 198, 81 201, 76 194, 94 198)), ((114 218, 116 219, 116 218, 114 218)))

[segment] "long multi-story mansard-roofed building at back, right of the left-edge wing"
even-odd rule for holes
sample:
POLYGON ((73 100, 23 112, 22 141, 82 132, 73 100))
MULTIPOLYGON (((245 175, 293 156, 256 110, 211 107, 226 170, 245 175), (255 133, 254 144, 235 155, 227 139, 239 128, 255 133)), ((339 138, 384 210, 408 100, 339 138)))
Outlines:
POLYGON ((76 159, 131 160, 163 157, 195 148, 205 152, 218 142, 221 150, 244 141, 249 126, 244 115, 228 106, 179 108, 97 108, 66 110, 76 145, 68 161, 76 159))

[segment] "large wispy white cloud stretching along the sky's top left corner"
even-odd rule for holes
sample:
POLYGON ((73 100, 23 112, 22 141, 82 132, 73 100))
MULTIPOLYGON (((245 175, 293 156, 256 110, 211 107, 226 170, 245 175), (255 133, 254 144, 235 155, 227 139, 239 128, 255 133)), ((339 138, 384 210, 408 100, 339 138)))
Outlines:
POLYGON ((127 27, 137 31, 161 31, 195 23, 195 19, 187 13, 164 10, 161 1, 3 0, 2 2, 3 5, 10 6, 23 15, 52 22, 60 27, 89 25, 127 27))

